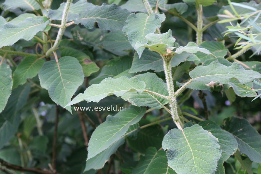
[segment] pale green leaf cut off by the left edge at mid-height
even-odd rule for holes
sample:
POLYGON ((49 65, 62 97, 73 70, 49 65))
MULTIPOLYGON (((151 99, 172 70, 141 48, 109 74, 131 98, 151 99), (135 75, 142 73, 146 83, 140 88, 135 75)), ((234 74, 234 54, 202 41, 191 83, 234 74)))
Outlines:
POLYGON ((7 100, 11 94, 13 80, 12 70, 9 65, 0 65, 0 113, 4 110, 7 100))

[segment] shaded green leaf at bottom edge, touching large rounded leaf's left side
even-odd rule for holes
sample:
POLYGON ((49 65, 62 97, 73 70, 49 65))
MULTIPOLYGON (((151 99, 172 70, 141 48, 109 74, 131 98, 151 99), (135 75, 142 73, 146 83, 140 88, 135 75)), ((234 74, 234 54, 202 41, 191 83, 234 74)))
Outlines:
POLYGON ((155 158, 148 166, 148 170, 144 174, 177 174, 168 165, 168 159, 166 156, 155 158))

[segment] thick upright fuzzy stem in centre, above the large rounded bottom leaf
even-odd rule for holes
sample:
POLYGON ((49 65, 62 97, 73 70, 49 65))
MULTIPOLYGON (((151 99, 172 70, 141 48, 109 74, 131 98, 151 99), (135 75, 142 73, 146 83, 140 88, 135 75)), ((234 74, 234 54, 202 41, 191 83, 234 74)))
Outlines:
POLYGON ((165 73, 167 87, 168 87, 169 96, 170 96, 169 105, 170 105, 170 109, 171 109, 171 116, 172 116, 174 123, 178 127, 178 129, 182 130, 183 123, 181 122, 181 120, 178 117, 178 103, 177 103, 177 100, 175 97, 173 78, 172 78, 172 72, 171 72, 171 59, 172 58, 165 58, 165 57, 162 57, 162 58, 163 58, 164 73, 165 73))

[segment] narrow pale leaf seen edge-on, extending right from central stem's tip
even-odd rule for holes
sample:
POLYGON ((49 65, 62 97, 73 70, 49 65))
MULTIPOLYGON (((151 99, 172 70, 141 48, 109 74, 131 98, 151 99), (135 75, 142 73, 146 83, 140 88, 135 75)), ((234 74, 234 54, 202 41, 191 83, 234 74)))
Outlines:
MULTIPOLYGON (((210 54, 210 55, 213 55, 212 53, 210 53, 210 51, 208 51, 207 49, 205 48, 199 48, 199 46, 194 43, 194 42, 188 42, 188 44, 186 46, 180 46, 179 48, 177 48, 174 53, 176 54, 181 54, 183 52, 187 52, 187 53, 196 53, 196 52, 202 52, 204 54, 210 54)), ((214 55, 213 55, 214 56, 214 55)), ((214 56, 215 57, 215 56, 214 56)))

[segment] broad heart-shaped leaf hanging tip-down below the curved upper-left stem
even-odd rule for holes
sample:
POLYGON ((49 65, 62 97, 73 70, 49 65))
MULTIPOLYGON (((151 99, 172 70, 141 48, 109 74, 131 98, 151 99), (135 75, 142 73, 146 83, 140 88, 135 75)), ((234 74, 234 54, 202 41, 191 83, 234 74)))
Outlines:
POLYGON ((77 88, 83 83, 83 70, 79 61, 70 56, 45 62, 39 72, 40 85, 48 90, 51 99, 71 112, 66 106, 77 88), (73 65, 73 66, 72 66, 73 65))

